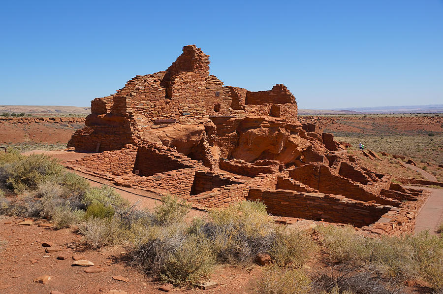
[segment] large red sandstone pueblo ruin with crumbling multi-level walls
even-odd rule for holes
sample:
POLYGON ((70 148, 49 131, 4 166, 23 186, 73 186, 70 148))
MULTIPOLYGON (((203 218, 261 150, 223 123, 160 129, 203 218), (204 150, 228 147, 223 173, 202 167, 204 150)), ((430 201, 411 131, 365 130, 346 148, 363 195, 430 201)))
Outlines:
POLYGON ((363 168, 332 134, 299 120, 284 85, 259 92, 224 86, 209 63, 188 45, 166 71, 137 75, 114 95, 95 98, 68 147, 96 154, 66 165, 200 209, 259 200, 278 222, 413 232, 422 190, 363 168))

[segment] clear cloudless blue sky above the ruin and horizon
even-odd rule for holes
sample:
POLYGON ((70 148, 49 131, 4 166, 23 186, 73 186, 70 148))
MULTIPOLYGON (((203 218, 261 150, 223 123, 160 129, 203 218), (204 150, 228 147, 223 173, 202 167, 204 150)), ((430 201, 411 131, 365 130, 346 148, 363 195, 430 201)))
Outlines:
POLYGON ((443 0, 1 1, 0 104, 89 106, 182 47, 299 108, 443 103, 443 0))

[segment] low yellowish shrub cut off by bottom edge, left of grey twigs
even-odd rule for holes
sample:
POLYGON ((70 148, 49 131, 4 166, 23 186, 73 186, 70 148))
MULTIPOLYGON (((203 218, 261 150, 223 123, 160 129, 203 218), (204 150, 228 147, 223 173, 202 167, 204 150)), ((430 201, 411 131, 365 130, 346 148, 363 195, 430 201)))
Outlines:
POLYGON ((259 294, 305 294, 310 291, 310 285, 310 278, 301 269, 271 265, 264 270, 254 289, 259 294))

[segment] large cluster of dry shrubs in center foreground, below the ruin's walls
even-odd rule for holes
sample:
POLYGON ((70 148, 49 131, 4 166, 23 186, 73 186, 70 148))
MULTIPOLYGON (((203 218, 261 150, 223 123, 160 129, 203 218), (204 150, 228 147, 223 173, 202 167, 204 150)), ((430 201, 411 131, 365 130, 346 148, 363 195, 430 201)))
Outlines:
POLYGON ((314 251, 305 233, 276 225, 263 203, 243 201, 191 224, 185 222, 189 208, 181 204, 163 197, 152 223, 133 238, 133 263, 164 282, 195 285, 216 263, 249 265, 261 253, 276 264, 300 266, 314 251))

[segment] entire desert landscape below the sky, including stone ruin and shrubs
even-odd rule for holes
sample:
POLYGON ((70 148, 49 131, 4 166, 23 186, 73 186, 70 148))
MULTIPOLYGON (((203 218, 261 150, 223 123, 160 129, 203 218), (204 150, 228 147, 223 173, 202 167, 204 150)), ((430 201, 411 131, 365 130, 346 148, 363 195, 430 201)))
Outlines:
POLYGON ((298 116, 209 64, 0 117, 0 292, 441 293, 441 115, 298 116))

